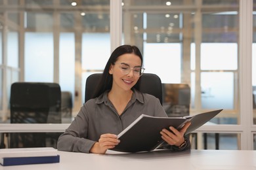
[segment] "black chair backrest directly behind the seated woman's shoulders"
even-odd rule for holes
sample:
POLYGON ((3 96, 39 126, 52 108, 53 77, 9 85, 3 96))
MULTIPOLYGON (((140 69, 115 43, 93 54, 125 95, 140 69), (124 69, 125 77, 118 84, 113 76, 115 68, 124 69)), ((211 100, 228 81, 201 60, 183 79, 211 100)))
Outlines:
MULTIPOLYGON (((101 76, 102 73, 96 73, 88 76, 85 84, 85 102, 91 99, 95 94, 96 84, 99 83, 101 76)), ((142 93, 154 95, 162 104, 161 79, 159 76, 151 73, 144 73, 140 76, 136 88, 142 93)))

